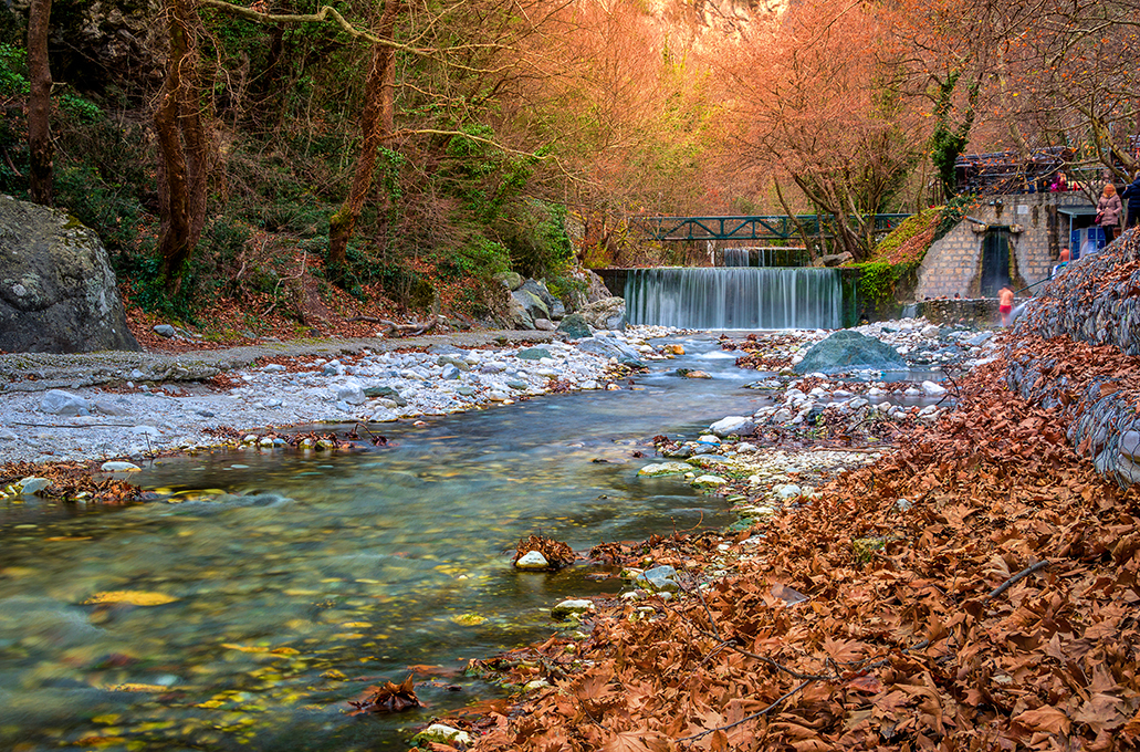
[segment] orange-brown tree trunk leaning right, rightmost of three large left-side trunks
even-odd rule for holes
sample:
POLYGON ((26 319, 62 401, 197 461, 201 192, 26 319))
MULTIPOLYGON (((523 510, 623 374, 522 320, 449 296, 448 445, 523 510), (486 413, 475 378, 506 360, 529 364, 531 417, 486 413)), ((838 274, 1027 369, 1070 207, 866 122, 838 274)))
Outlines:
MULTIPOLYGON (((376 35, 381 40, 392 40, 396 16, 400 0, 385 0, 376 35)), ((376 152, 391 138, 394 128, 396 50, 386 44, 373 44, 372 65, 365 81, 365 105, 360 115, 363 141, 357 156, 352 186, 341 209, 328 220, 328 276, 342 281, 347 261, 347 250, 357 220, 364 209, 364 199, 372 189, 372 173, 376 166, 376 152)))

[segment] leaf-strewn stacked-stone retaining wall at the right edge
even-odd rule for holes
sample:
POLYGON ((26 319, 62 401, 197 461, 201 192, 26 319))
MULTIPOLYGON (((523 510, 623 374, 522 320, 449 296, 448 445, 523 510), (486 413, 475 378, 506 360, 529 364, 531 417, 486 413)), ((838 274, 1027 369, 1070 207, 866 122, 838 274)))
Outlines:
MULTIPOLYGON (((1098 254, 1084 256, 1039 289, 1018 317, 1015 336, 1067 335, 1091 345, 1112 345, 1140 355, 1140 231, 1132 230, 1098 254)), ((1072 417, 1068 439, 1097 471, 1122 485, 1140 482, 1140 390, 1123 378, 1100 377, 1073 393, 1057 377, 1054 361, 1011 355, 1010 389, 1047 409, 1072 417)), ((1131 368, 1121 376, 1133 375, 1131 368)), ((1134 378, 1129 379, 1135 382, 1134 378)))

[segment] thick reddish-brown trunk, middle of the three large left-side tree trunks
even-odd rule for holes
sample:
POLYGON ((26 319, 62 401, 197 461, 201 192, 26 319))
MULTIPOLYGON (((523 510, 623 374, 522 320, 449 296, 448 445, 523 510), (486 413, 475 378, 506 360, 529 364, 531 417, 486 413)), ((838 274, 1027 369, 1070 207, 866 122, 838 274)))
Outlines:
POLYGON ((158 258, 163 286, 173 296, 205 223, 207 145, 198 101, 196 2, 165 0, 164 8, 170 51, 154 128, 162 219, 158 258))

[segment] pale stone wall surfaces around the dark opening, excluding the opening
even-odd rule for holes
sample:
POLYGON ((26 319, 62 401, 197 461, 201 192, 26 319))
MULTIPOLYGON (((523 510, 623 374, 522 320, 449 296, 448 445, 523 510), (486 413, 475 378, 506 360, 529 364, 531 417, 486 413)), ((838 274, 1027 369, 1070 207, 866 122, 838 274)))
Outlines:
POLYGON ((987 227, 1010 230, 1010 277, 1017 287, 1049 278, 1060 250, 1068 245, 1068 220, 1059 206, 1088 205, 1078 193, 1013 194, 971 207, 962 220, 927 251, 919 269, 915 300, 977 297, 982 284, 982 242, 987 227))

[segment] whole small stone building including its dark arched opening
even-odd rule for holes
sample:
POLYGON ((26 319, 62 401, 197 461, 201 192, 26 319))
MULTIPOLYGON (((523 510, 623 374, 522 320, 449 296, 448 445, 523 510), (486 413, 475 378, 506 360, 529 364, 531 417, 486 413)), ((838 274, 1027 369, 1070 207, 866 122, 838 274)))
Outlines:
POLYGON ((1049 279, 1072 232, 1083 238, 1094 214, 1078 191, 982 198, 927 251, 914 297, 995 297, 1007 283, 1021 291, 1049 279))

